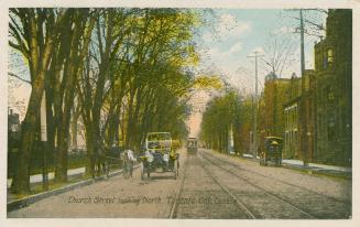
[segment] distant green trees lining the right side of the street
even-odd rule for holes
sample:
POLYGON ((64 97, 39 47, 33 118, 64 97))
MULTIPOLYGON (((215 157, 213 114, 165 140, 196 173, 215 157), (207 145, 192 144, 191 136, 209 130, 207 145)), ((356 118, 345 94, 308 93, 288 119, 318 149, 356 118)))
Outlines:
MULTIPOLYGON (((259 110, 263 109, 262 102, 260 101, 259 110)), ((249 152, 253 142, 250 134, 253 130, 253 96, 242 96, 236 88, 228 87, 207 104, 201 121, 201 140, 207 148, 220 152, 249 152)), ((258 122, 264 123, 263 112, 259 114, 258 122)))

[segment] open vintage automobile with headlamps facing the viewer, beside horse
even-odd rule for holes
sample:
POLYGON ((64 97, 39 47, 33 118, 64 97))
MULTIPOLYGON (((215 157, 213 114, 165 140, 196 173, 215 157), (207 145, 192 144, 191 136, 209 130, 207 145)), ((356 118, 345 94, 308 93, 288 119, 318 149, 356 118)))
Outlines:
POLYGON ((170 132, 149 132, 145 138, 141 160, 141 180, 151 173, 171 172, 176 180, 178 176, 179 154, 172 148, 170 132))

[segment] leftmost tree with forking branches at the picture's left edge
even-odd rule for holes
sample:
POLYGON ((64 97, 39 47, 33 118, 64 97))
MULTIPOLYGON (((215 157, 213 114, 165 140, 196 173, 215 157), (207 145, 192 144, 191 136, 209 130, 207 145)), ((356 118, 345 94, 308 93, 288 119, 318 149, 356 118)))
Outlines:
POLYGON ((30 191, 29 160, 45 88, 45 75, 66 17, 67 11, 65 9, 10 9, 9 45, 22 53, 28 61, 32 85, 28 110, 21 129, 17 172, 11 186, 12 191, 17 193, 30 191), (46 32, 43 28, 46 28, 46 32))

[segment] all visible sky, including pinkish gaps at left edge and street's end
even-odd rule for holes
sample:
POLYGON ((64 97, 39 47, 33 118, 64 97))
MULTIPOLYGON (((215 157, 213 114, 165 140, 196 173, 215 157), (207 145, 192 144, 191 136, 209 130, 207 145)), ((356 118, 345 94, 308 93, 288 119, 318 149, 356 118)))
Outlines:
MULTIPOLYGON (((254 60, 247 56, 259 51, 266 55, 266 42, 276 34, 280 39, 291 39, 294 43, 294 64, 284 69, 282 77, 291 77, 292 73, 299 75, 299 34, 294 33, 298 28, 298 11, 285 10, 251 10, 251 9, 212 9, 208 15, 208 23, 199 28, 196 41, 200 43, 200 64, 197 71, 210 69, 226 77, 232 86, 239 88, 242 94, 254 93, 254 60), (239 69, 240 68, 240 69, 239 69)), ((318 12, 305 12, 305 19, 316 23, 324 23, 326 14, 318 12)), ((306 68, 314 67, 314 42, 316 36, 305 36, 305 62, 306 68)), ((12 53, 13 54, 13 53, 12 53)), ((259 89, 263 88, 263 80, 269 73, 264 63, 259 61, 259 89)), ((10 57, 9 72, 22 75, 29 79, 28 66, 19 61, 18 56, 10 57)), ((19 99, 25 104, 29 101, 31 87, 24 83, 9 93, 9 100, 19 99), (10 97, 13 96, 13 97, 10 97)), ((195 109, 204 110, 208 94, 199 93, 192 100, 195 109)), ((11 105, 9 104, 11 107, 11 105)), ((17 109, 14 110, 18 111, 17 109)), ((18 111, 19 112, 19 111, 18 111)), ((21 120, 24 115, 22 114, 21 120)), ((188 120, 190 136, 197 136, 201 120, 201 112, 193 112, 188 120)))

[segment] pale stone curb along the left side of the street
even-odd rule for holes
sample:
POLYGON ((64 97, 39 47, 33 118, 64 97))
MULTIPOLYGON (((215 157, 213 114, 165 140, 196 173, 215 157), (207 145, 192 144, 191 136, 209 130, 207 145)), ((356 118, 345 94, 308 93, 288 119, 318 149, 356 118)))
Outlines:
MULTIPOLYGON (((139 166, 140 166, 140 164, 134 165, 133 169, 138 169, 139 166)), ((109 177, 119 175, 121 173, 122 173, 122 170, 113 171, 113 172, 109 173, 109 177)), ((22 207, 29 206, 29 205, 31 205, 33 203, 36 203, 36 202, 39 202, 41 199, 44 199, 44 198, 47 198, 50 196, 58 195, 61 193, 65 193, 65 192, 68 192, 68 191, 75 190, 75 188, 87 186, 87 185, 97 183, 97 182, 102 181, 102 180, 106 180, 106 176, 99 176, 97 179, 84 180, 84 181, 80 181, 80 182, 77 182, 77 183, 74 183, 74 184, 69 184, 69 185, 59 187, 59 188, 55 188, 55 190, 52 190, 52 191, 39 193, 39 194, 31 195, 31 196, 24 197, 24 198, 19 198, 19 199, 9 202, 7 204, 7 212, 12 212, 14 209, 20 209, 22 207)))

